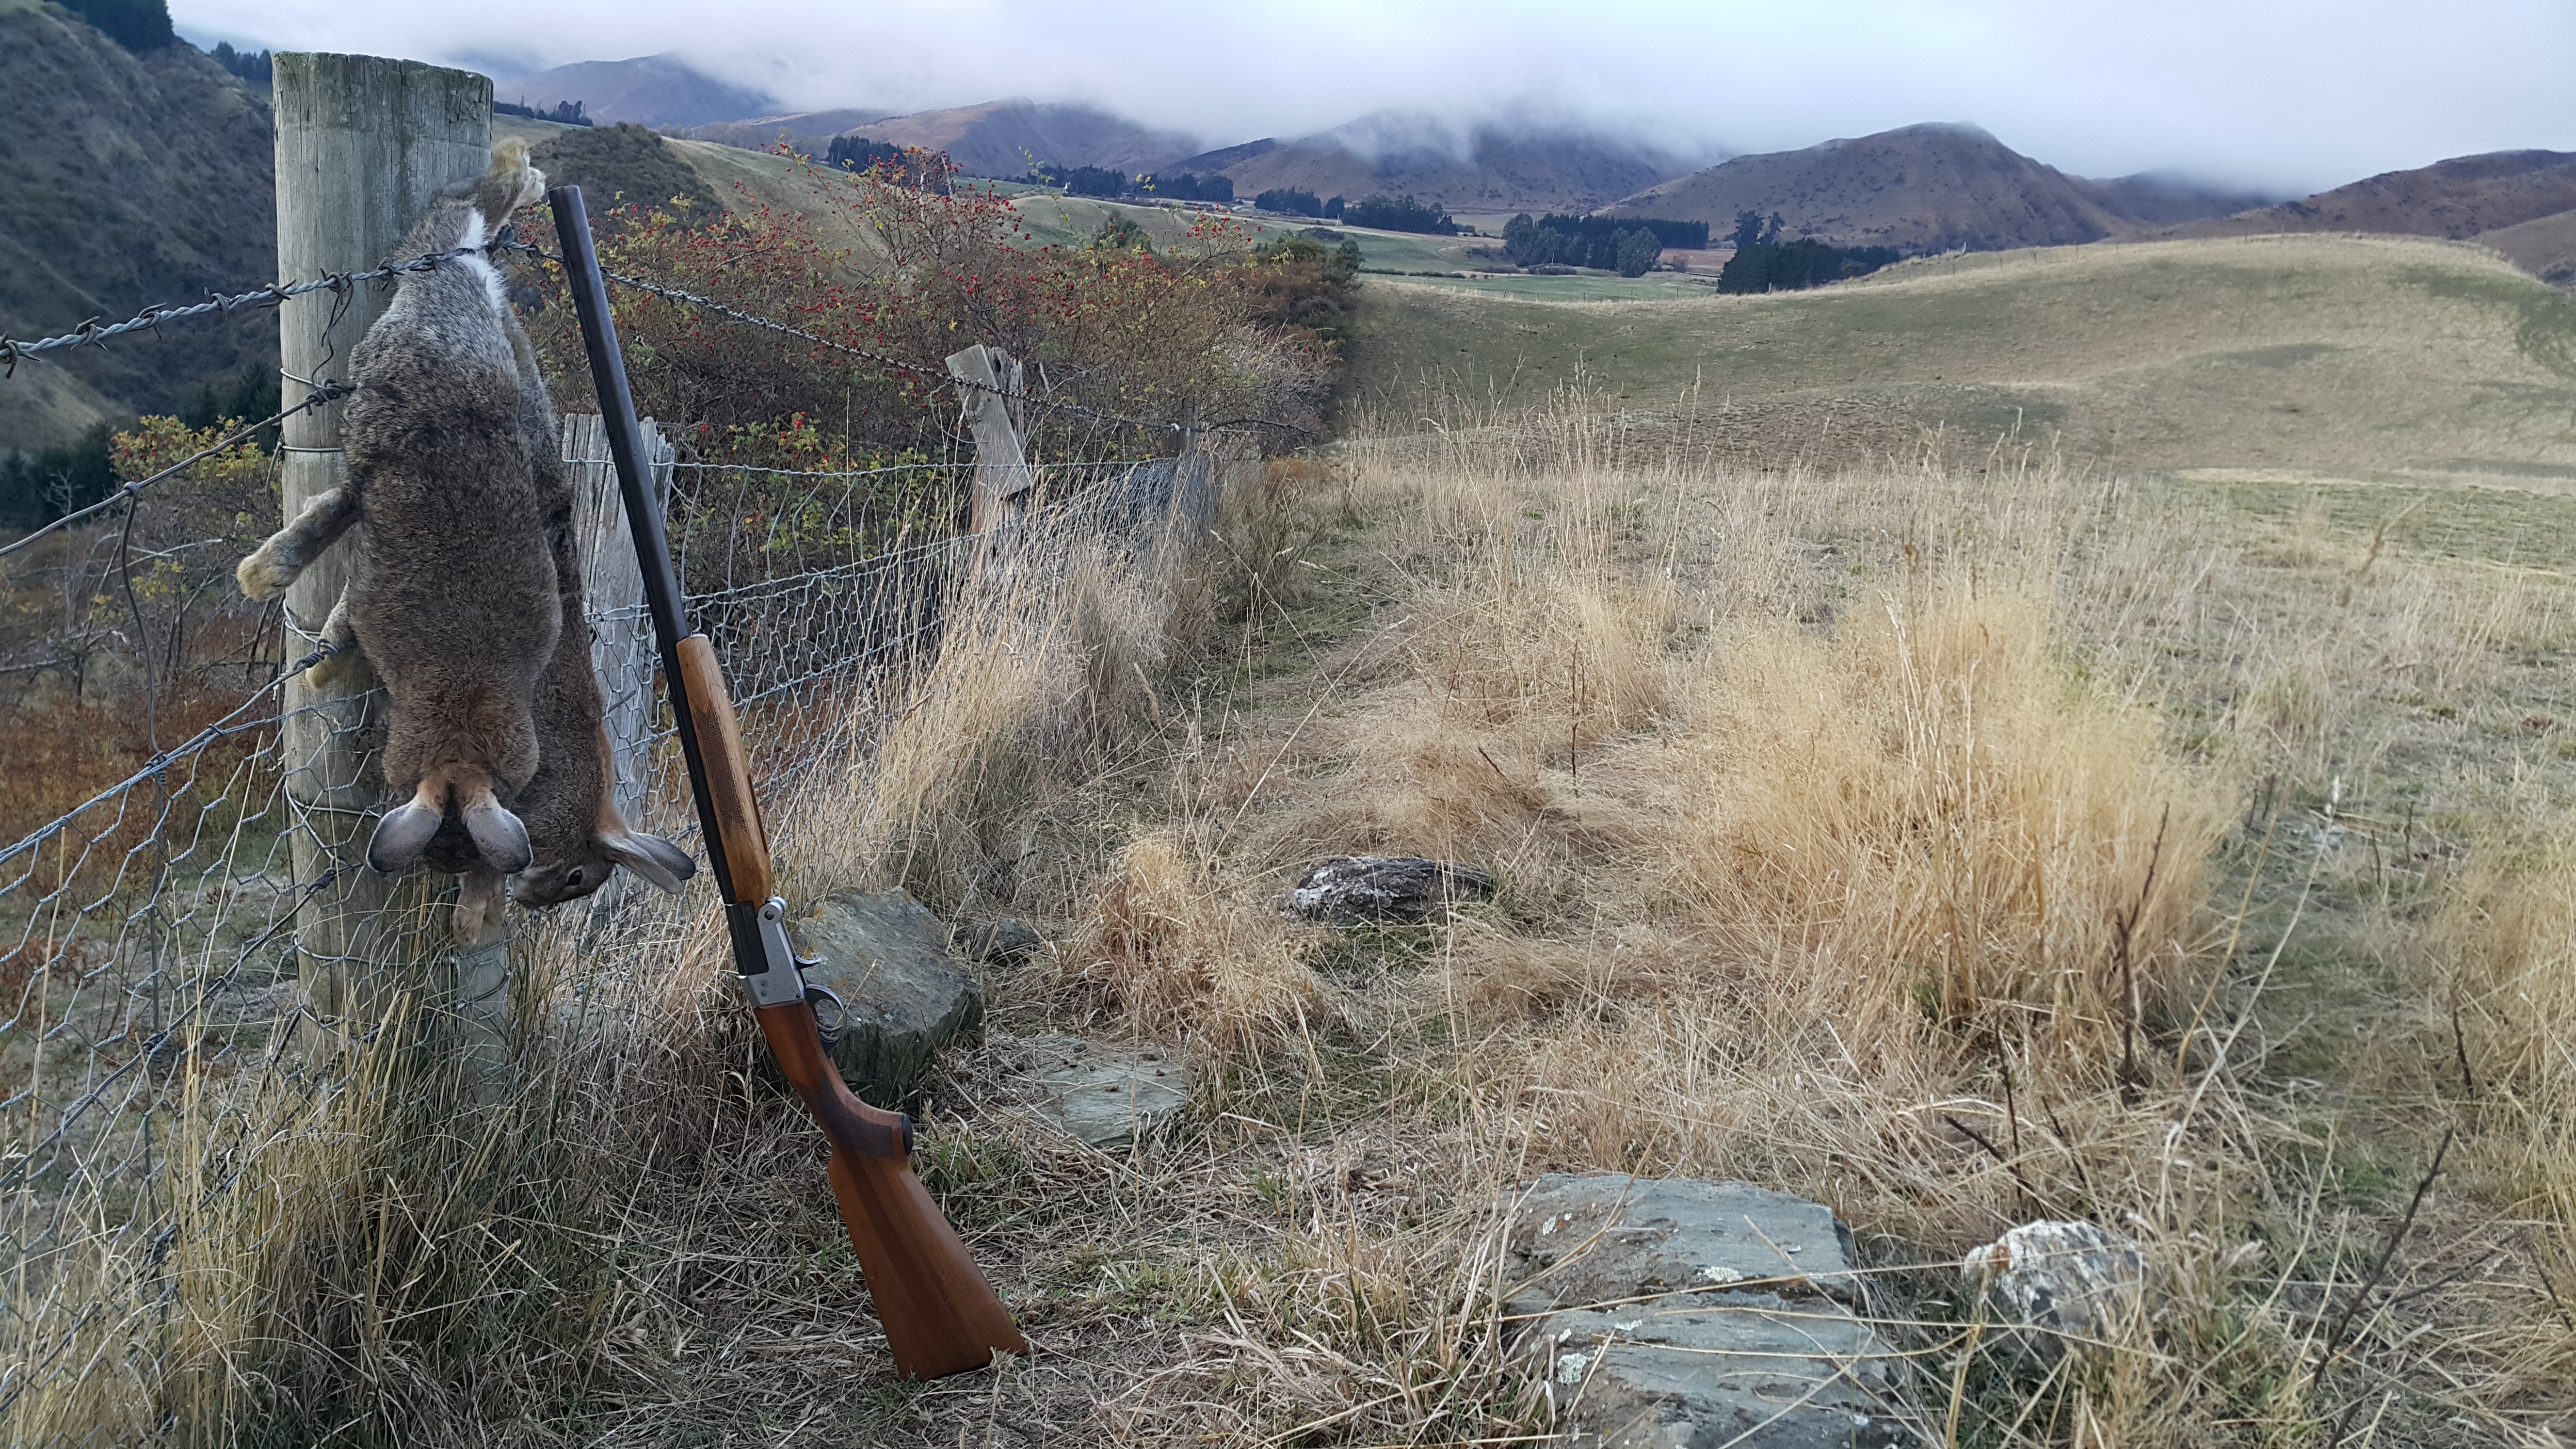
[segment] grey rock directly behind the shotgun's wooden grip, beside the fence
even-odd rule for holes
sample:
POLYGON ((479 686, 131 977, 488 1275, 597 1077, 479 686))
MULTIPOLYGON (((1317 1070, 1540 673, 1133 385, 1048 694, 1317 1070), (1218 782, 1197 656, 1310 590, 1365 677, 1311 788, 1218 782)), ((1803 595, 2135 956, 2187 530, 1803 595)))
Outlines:
POLYGON ((840 998, 817 1006, 850 1091, 896 1106, 930 1075, 943 1047, 984 1024, 984 987, 948 954, 948 931, 917 900, 850 892, 788 920, 806 985, 840 998))

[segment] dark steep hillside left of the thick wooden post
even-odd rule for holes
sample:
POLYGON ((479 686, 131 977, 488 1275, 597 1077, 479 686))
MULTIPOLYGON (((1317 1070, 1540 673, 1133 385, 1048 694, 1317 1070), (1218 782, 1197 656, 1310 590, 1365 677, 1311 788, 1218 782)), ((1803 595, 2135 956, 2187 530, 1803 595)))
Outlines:
MULTIPOLYGON (((0 333, 273 278, 268 103, 188 44, 131 54, 70 10, 0 3, 0 333)), ((173 407, 201 382, 276 361, 268 312, 18 364, 0 446, 173 407)))

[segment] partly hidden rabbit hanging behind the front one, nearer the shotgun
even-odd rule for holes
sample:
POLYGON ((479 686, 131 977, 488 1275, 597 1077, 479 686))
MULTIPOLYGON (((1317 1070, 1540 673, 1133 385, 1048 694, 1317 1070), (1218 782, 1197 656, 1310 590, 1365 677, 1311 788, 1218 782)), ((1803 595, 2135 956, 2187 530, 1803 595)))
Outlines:
MULTIPOLYGON (((505 160, 497 152, 495 173, 502 170, 505 160)), ((518 423, 528 477, 538 498, 562 498, 562 511, 549 518, 544 544, 554 567, 559 629, 531 694, 538 763, 526 784, 502 792, 505 804, 526 830, 531 853, 531 864, 518 874, 510 895, 526 908, 580 900, 600 890, 618 864, 654 887, 675 892, 683 879, 696 874, 696 861, 677 846, 634 830, 608 794, 613 771, 608 735, 600 724, 598 676, 590 668, 590 621, 582 616, 580 559, 569 529, 572 490, 556 449, 559 425, 536 353, 515 320, 510 322, 510 343, 518 366, 518 423)), ((314 498, 294 523, 242 559, 242 590, 252 598, 283 590, 335 539, 355 529, 361 513, 353 487, 314 498)), ((317 681, 358 668, 363 639, 358 639, 350 593, 343 593, 332 606, 322 642, 335 652, 314 665, 317 681)), ((471 822, 440 817, 422 843, 417 864, 464 874, 456 897, 456 936, 464 941, 489 938, 492 928, 500 926, 505 877, 487 859, 471 822)))

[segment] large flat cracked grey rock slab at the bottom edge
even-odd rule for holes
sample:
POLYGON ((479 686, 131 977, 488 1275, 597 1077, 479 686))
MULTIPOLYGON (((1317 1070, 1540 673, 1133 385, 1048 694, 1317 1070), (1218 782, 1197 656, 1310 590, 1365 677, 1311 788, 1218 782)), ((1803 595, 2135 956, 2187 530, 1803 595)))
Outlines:
POLYGON ((1893 1351, 1862 1323, 1850 1235, 1749 1183, 1546 1176, 1512 1207, 1522 1348, 1551 1354, 1577 1444, 1911 1444, 1893 1351))

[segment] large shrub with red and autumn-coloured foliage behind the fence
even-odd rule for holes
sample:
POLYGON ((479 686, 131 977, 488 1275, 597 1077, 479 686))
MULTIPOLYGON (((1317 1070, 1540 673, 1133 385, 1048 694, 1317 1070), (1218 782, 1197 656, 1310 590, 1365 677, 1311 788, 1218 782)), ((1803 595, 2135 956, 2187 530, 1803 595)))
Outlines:
MULTIPOLYGON (((907 162, 909 165, 909 162, 907 162)), ((896 186, 881 168, 814 173, 817 196, 848 206, 876 245, 837 250, 796 211, 683 214, 623 206, 600 260, 832 343, 904 358, 922 371, 817 348, 613 289, 636 405, 701 459, 858 467, 945 456, 956 392, 940 358, 994 343, 1030 364, 1054 400, 1154 420, 1257 415, 1303 425, 1329 353, 1255 317, 1249 248, 1224 219, 1164 250, 1030 248, 1007 199, 896 186), (829 420, 829 423, 827 423, 829 420)), ((562 286, 541 273, 544 286, 562 286)), ((564 407, 587 405, 587 366, 569 307, 544 307, 531 333, 564 407)), ((1170 433, 1131 433, 1064 410, 1028 418, 1036 451, 1136 456, 1170 433)), ((909 505, 909 503, 907 503, 909 505)))

